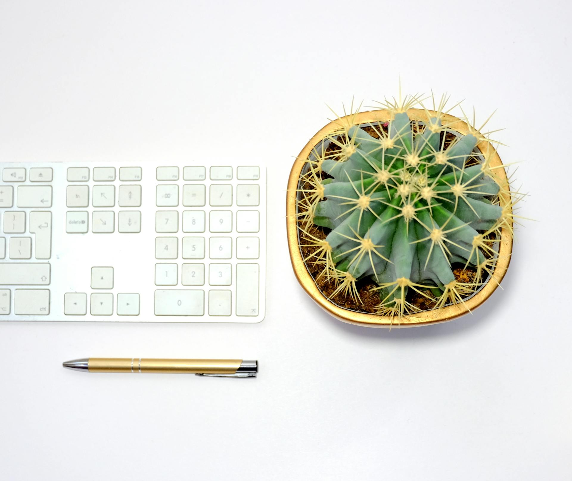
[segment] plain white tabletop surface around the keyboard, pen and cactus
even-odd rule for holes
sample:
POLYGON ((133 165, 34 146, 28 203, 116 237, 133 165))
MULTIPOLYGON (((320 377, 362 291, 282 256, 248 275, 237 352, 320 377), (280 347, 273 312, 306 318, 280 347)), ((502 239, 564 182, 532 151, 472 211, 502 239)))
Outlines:
POLYGON ((0 160, 268 166, 255 325, 0 324, 2 480, 570 480, 569 2, 0 2, 0 160), (293 157, 353 95, 450 92, 521 162, 513 261, 472 316, 321 312, 285 236, 293 157), (244 357, 256 380, 88 375, 244 357))

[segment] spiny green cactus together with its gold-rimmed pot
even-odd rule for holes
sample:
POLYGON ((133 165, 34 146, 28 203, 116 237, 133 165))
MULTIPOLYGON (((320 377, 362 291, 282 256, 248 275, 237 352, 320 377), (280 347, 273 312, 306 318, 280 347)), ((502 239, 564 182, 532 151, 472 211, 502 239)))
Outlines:
POLYGON ((446 103, 433 98, 429 110, 407 96, 338 117, 292 167, 292 265, 340 320, 391 327, 454 319, 505 275, 520 197, 499 142, 484 125, 448 114, 446 103))

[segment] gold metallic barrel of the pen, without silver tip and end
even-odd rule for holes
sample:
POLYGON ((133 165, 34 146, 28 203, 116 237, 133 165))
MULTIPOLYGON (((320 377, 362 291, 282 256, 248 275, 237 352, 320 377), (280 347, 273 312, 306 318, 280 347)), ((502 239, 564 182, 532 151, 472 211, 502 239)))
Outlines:
POLYGON ((140 359, 90 357, 89 372, 234 374, 242 359, 140 359))

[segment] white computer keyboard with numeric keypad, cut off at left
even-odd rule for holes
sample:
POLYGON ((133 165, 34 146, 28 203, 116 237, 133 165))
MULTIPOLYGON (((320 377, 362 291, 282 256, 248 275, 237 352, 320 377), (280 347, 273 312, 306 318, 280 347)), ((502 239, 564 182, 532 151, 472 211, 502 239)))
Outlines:
POLYGON ((263 166, 34 162, 0 170, 0 320, 264 319, 263 166))

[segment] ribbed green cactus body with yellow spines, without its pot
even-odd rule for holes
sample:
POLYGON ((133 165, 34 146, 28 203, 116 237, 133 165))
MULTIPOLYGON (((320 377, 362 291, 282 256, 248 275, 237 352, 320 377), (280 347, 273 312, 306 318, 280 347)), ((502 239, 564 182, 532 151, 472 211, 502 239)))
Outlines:
POLYGON ((409 289, 453 301, 451 291, 466 294, 453 264, 485 265, 486 240, 503 221, 499 184, 475 152, 483 138, 453 132, 436 115, 424 126, 396 112, 387 129, 372 126, 376 137, 351 126, 330 139, 339 151, 312 167, 319 194, 311 220, 331 229, 324 245, 337 282, 374 280, 380 313, 403 315, 409 289), (447 132, 454 140, 445 142, 447 132))

